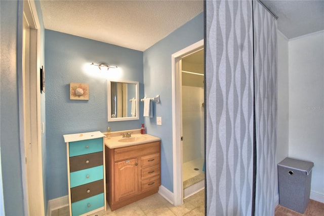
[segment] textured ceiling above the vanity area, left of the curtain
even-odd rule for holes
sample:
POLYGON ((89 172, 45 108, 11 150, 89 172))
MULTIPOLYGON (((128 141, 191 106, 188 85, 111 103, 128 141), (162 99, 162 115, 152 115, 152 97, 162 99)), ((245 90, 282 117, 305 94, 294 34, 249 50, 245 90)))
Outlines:
POLYGON ((204 11, 199 1, 41 1, 46 29, 144 51, 204 11))

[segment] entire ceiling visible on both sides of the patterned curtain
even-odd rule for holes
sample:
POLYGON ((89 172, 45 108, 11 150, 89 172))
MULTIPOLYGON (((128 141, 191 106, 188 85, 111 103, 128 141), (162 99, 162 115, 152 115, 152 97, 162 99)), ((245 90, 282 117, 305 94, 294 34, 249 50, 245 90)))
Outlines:
MULTIPOLYGON (((324 29, 324 0, 263 0, 288 39, 324 29)), ((144 51, 204 10, 204 1, 41 0, 44 26, 144 51)))

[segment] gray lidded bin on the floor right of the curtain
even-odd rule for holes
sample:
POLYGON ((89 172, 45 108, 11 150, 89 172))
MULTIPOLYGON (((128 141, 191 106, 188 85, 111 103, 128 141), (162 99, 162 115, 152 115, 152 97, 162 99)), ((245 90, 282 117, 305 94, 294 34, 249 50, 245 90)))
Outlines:
POLYGON ((304 213, 310 195, 313 162, 285 158, 278 163, 279 204, 304 213))

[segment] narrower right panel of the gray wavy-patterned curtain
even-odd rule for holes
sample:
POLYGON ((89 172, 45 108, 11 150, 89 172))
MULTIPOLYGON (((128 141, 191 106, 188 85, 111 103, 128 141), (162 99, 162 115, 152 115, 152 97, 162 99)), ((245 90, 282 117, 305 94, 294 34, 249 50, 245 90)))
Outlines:
POLYGON ((254 80, 257 143, 255 215, 274 215, 276 169, 277 22, 258 2, 254 14, 254 80))

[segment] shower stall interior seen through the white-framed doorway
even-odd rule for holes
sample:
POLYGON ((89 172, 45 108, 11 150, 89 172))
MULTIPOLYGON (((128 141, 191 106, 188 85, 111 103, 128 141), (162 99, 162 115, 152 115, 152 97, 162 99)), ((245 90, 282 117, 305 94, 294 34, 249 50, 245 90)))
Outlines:
POLYGON ((184 198, 205 186, 204 50, 182 59, 184 198))

